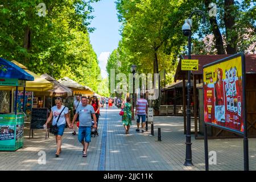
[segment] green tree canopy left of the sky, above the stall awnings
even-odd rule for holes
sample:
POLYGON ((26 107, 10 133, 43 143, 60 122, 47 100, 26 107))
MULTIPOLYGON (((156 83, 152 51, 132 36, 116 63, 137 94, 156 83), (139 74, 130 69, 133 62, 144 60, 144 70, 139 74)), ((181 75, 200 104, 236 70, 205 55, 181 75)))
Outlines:
POLYGON ((91 3, 98 0, 0 2, 0 57, 16 60, 30 71, 56 79, 68 76, 97 92, 101 81, 96 53, 89 40, 91 3))

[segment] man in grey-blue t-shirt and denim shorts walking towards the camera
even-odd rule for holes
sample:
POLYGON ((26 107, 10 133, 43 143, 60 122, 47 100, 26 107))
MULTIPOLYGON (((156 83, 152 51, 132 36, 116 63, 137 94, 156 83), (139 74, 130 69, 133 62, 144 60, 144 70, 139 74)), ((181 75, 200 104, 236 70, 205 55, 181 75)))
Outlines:
POLYGON ((76 118, 79 115, 79 142, 82 144, 82 156, 87 156, 87 149, 91 139, 91 126, 92 126, 92 116, 94 121, 94 129, 97 128, 97 118, 92 105, 89 105, 88 98, 81 98, 82 105, 77 107, 76 114, 73 117, 71 127, 76 121, 76 118))

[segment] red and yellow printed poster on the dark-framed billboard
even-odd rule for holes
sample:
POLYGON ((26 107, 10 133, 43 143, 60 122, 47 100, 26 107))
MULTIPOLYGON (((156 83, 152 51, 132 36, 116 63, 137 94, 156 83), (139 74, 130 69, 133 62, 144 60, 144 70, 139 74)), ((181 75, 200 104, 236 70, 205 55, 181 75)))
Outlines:
POLYGON ((243 133, 242 57, 203 68, 204 122, 243 133))

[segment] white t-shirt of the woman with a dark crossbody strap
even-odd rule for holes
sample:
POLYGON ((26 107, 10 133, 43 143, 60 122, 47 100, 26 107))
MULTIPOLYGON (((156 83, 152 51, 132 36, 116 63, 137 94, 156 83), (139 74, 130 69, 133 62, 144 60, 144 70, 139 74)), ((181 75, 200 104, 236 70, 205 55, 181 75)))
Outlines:
MULTIPOLYGON (((53 115, 52 125, 56 125, 57 119, 58 119, 58 117, 59 117, 59 115, 60 115, 60 113, 61 113, 61 111, 63 110, 64 107, 65 107, 64 105, 61 105, 60 109, 57 109, 57 106, 53 106, 51 108, 52 115, 53 115)), ((65 125, 66 124, 65 114, 68 114, 68 107, 65 107, 65 109, 61 113, 60 119, 59 119, 59 121, 57 123, 57 126, 65 125)))

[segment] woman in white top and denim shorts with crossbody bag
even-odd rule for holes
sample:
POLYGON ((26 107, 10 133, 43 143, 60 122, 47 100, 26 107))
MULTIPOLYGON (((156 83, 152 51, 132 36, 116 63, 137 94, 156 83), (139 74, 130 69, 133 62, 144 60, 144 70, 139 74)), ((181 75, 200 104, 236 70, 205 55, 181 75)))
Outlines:
MULTIPOLYGON (((56 106, 53 106, 51 108, 51 113, 49 114, 49 117, 46 121, 46 126, 47 124, 51 121, 52 117, 52 125, 56 125, 57 119, 59 118, 59 115, 61 113, 61 111, 64 109, 65 106, 62 105, 62 101, 61 98, 57 98, 55 100, 55 104, 56 106)), ((65 109, 62 111, 59 121, 57 122, 57 127, 58 127, 58 133, 57 135, 55 135, 56 137, 56 144, 57 144, 57 151, 56 151, 56 158, 59 157, 60 152, 61 152, 61 137, 64 133, 64 129, 65 129, 65 125, 66 125, 66 121, 68 123, 68 127, 69 129, 71 129, 71 123, 69 121, 69 117, 68 117, 68 107, 65 107, 65 109)))

